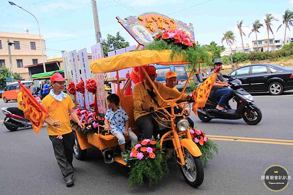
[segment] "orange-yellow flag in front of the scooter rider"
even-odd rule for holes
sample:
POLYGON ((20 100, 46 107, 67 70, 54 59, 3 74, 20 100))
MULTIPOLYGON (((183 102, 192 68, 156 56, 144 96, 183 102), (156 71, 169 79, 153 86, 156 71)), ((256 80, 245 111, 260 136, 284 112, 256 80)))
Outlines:
POLYGON ((205 107, 209 97, 210 89, 212 88, 217 78, 217 74, 220 70, 221 69, 216 70, 215 73, 210 75, 198 88, 196 88, 192 92, 192 99, 194 101, 192 110, 196 116, 197 116, 197 108, 205 107))

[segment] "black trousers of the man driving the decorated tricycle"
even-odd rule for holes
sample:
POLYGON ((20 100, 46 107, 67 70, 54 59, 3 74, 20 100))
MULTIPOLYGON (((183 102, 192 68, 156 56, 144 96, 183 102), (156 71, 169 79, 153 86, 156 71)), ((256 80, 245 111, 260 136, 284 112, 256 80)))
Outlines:
POLYGON ((151 139, 153 132, 159 131, 159 124, 152 117, 152 113, 138 117, 135 123, 142 130, 142 140, 151 139))

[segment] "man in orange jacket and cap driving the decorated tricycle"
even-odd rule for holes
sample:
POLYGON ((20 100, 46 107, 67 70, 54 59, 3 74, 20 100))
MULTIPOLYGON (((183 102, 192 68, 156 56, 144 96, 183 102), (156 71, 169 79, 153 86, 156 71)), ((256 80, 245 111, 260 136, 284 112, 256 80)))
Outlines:
MULTIPOLYGON (((156 80, 156 68, 154 66, 146 66, 146 72, 150 80, 156 86, 156 89, 163 97, 178 98, 180 96, 179 91, 175 91, 166 87, 164 84, 155 81, 156 80)), ((190 98, 189 95, 184 94, 182 99, 190 98)), ((142 130, 141 139, 150 139, 154 130, 158 130, 158 123, 153 119, 152 114, 146 112, 149 107, 162 107, 164 105, 163 100, 154 92, 150 82, 145 79, 143 82, 137 83, 133 89, 133 106, 134 106, 134 120, 138 127, 142 130)))

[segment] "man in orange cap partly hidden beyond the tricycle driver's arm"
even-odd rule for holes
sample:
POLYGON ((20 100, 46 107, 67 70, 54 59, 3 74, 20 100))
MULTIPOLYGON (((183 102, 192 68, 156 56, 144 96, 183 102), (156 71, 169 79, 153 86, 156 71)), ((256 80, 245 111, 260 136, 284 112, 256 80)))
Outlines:
MULTIPOLYGON (((168 88, 170 88, 170 89, 173 89, 174 91, 178 91, 178 89, 175 88, 176 85, 177 85, 177 74, 176 74, 176 72, 174 72, 174 71, 168 71, 166 73, 166 76, 165 77, 166 77, 166 86, 168 88)), ((164 97, 164 98, 166 99, 168 97, 164 97)), ((181 113, 181 110, 182 109, 183 109, 183 105, 179 105, 178 107, 174 107, 175 114, 181 113)), ((184 112, 185 112, 185 114, 187 116, 189 115, 189 111, 188 110, 185 110, 184 112)), ((190 124, 190 126, 193 128, 193 126, 194 126, 193 121, 189 117, 187 117, 187 120, 188 120, 188 123, 190 124)))

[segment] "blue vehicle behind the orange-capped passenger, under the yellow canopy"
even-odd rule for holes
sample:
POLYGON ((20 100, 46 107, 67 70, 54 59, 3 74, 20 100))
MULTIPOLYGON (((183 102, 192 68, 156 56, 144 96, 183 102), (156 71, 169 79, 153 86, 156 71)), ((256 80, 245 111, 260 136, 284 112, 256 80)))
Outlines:
MULTIPOLYGON (((166 73, 168 71, 174 71, 177 74, 177 85, 176 88, 178 90, 182 90, 185 86, 185 83, 188 79, 187 72, 185 70, 184 65, 172 65, 172 66, 163 66, 163 65, 155 65, 157 69, 157 78, 156 81, 162 82, 166 84, 166 73)), ((188 86, 187 86, 188 88, 188 86)))

